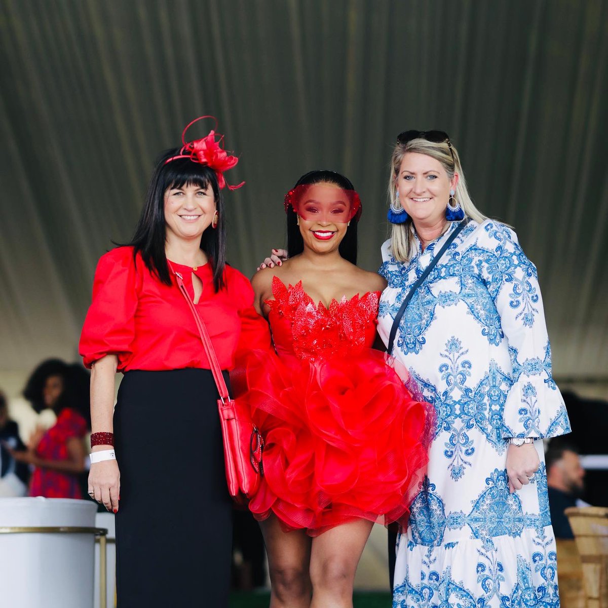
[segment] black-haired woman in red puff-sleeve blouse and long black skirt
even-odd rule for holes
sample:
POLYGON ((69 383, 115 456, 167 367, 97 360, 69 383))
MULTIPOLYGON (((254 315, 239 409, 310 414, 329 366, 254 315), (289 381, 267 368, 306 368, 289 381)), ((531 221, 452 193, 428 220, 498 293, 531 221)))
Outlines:
POLYGON ((223 170, 237 159, 216 137, 162 155, 133 241, 98 263, 80 339, 92 444, 103 442, 92 447, 89 493, 116 513, 119 608, 227 606, 232 503, 218 392, 173 272, 224 370, 240 343, 268 345, 269 334, 249 281, 226 264, 223 170))

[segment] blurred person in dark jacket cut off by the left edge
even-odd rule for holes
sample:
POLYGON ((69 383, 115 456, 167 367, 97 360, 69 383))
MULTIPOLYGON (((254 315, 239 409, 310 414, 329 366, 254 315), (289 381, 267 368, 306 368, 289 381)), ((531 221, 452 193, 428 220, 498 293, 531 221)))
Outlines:
POLYGON ((0 391, 0 498, 25 496, 30 474, 27 465, 10 455, 9 449, 24 450, 19 427, 9 417, 9 404, 0 391))

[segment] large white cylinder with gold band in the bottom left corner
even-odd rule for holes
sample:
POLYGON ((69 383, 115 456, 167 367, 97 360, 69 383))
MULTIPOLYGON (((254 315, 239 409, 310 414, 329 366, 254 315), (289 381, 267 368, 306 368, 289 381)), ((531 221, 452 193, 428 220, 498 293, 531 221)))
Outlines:
POLYGON ((90 500, 0 499, 0 603, 7 608, 92 608, 95 511, 90 500), (12 533, 78 527, 86 533, 12 533), (4 531, 9 529, 7 533, 4 531))

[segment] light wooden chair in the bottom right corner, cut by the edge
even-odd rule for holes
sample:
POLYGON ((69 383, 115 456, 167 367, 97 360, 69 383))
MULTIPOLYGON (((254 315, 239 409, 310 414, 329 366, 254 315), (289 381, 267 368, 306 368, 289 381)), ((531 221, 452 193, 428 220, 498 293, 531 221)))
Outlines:
POLYGON ((565 510, 581 556, 586 608, 608 608, 608 508, 565 510))

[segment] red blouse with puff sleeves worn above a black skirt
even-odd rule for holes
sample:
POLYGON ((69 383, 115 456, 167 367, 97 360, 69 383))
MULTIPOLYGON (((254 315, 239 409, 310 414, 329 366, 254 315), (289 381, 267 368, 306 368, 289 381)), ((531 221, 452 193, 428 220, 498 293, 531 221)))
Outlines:
MULTIPOLYGON (((196 271, 171 264, 183 275, 192 299, 192 272, 201 279, 196 307, 221 368, 233 367, 237 350, 270 347, 268 323, 255 311, 254 291, 243 274, 226 266, 226 288, 216 293, 210 264, 196 271)), ((117 247, 100 258, 79 350, 89 368, 106 354, 116 354, 119 371, 210 369, 177 284, 165 285, 151 274, 140 254, 133 257, 133 247, 117 247)))

